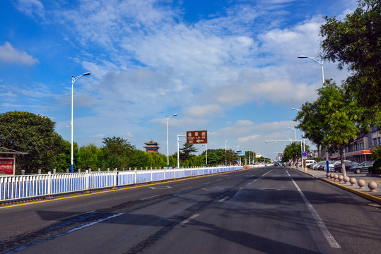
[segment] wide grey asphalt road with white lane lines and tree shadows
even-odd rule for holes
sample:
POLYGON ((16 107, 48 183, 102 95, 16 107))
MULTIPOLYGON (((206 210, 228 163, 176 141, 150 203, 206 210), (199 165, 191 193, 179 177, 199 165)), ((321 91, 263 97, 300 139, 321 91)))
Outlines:
POLYGON ((380 253, 381 208, 283 167, 0 206, 1 253, 380 253))

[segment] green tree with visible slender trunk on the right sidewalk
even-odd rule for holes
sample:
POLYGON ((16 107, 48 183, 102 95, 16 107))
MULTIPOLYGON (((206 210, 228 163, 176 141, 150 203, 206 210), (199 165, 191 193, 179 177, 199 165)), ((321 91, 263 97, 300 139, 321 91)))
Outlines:
POLYGON ((320 132, 322 147, 331 151, 339 150, 342 171, 346 176, 344 147, 357 138, 361 131, 369 130, 369 121, 364 117, 364 108, 356 107, 356 100, 346 96, 344 90, 332 80, 326 80, 324 87, 318 90, 318 95, 314 107, 302 107, 298 112, 296 119, 300 120, 300 124, 297 128, 305 131, 308 138, 316 138, 315 133, 320 132))

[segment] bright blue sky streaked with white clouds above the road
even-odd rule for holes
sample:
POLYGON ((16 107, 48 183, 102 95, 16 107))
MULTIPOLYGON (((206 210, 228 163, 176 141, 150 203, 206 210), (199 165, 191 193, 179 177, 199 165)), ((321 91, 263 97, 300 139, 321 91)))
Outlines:
MULTIPOLYGON (((177 135, 211 131, 208 149, 268 158, 295 140, 293 121, 317 99, 323 16, 342 20, 353 0, 3 0, 0 113, 48 116, 71 140, 121 137, 177 151, 177 135), (291 127, 291 128, 288 128, 291 127), (228 141, 226 141, 228 140, 228 141)), ((324 78, 346 79, 324 62, 324 78)), ((300 139, 299 130, 296 131, 300 139)), ((183 142, 180 143, 180 147, 183 142)), ((307 145, 310 143, 307 141, 307 145)), ((203 145, 196 145, 199 151, 203 145)))

